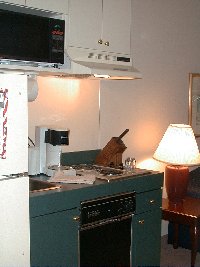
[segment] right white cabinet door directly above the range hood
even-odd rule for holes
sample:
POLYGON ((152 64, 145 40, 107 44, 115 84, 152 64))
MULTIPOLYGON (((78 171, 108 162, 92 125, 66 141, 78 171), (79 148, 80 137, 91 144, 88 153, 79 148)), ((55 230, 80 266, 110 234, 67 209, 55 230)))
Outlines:
POLYGON ((110 52, 130 54, 131 1, 103 0, 103 46, 110 52))

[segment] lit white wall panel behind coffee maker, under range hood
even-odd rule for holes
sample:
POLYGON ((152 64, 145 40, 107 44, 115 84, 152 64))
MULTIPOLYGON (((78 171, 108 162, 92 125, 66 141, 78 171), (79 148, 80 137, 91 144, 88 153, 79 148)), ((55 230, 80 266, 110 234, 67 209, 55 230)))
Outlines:
POLYGON ((39 93, 29 103, 29 137, 35 126, 69 128, 63 152, 96 149, 99 138, 99 82, 38 77, 39 93))

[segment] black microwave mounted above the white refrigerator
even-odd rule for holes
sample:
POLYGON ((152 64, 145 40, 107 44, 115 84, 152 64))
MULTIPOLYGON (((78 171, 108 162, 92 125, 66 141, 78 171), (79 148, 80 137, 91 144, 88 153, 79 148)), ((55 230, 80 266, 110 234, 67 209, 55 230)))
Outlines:
POLYGON ((0 63, 63 64, 64 32, 64 20, 0 10, 0 63))

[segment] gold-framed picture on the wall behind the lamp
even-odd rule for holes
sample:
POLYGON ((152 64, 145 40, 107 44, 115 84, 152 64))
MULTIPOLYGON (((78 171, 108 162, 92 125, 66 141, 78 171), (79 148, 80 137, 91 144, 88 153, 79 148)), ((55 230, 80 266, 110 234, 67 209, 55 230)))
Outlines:
POLYGON ((200 73, 189 73, 189 125, 200 137, 200 73))

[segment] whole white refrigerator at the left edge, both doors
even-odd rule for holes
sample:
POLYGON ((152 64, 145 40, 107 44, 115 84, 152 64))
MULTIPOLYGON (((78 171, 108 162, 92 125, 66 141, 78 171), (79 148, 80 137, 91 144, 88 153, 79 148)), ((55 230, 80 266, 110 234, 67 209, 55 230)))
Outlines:
POLYGON ((0 74, 0 267, 29 267, 27 76, 0 74))

